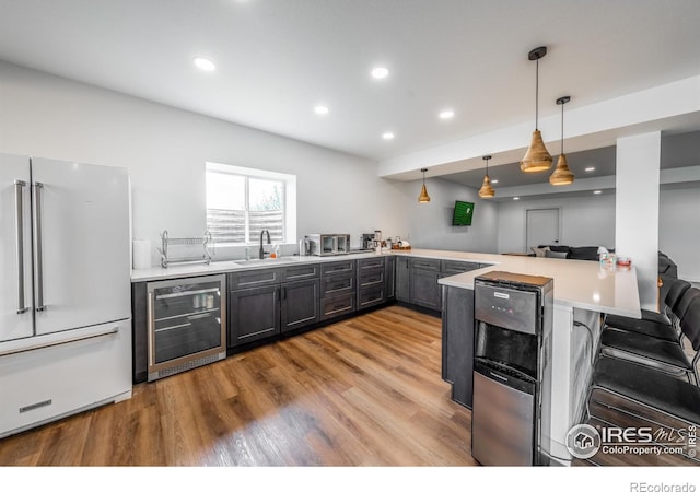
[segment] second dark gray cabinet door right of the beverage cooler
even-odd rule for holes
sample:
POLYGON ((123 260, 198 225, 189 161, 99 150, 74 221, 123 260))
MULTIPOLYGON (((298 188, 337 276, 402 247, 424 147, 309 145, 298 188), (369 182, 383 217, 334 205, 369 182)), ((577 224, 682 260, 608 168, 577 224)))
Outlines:
POLYGON ((318 321, 318 279, 283 283, 281 291, 282 332, 318 321))

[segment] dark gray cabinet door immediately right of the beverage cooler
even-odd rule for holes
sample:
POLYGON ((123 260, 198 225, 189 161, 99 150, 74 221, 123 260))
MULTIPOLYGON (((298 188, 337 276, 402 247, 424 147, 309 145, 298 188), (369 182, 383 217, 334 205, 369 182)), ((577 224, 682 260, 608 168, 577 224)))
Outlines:
POLYGON ((231 291, 229 347, 272 337, 280 332, 279 285, 231 291))

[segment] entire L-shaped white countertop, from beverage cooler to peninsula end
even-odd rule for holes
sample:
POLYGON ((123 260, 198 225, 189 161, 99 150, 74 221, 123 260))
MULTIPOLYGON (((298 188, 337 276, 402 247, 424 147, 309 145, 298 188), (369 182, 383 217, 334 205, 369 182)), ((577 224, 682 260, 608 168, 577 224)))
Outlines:
MULTIPOLYGON (((389 251, 385 249, 383 256, 385 255, 491 263, 486 268, 439 280, 439 283, 443 285, 462 289, 474 289, 474 278, 492 270, 550 277, 555 279, 555 304, 633 318, 641 317, 637 272, 633 267, 626 270, 610 271, 602 268, 597 261, 445 251, 440 249, 411 249, 409 251, 389 251)), ((242 260, 231 260, 212 261, 210 265, 172 265, 168 268, 159 266, 144 270, 131 270, 131 282, 200 277, 252 268, 341 261, 342 259, 372 258, 375 256, 375 253, 354 253, 324 257, 287 256, 279 259, 268 258, 248 263, 242 262, 242 260)))

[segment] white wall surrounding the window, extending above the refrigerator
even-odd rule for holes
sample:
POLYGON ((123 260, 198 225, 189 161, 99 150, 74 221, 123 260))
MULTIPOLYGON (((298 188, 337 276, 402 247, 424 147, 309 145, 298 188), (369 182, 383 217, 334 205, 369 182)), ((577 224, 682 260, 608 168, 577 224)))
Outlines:
POLYGON ((133 236, 153 246, 163 230, 205 232, 207 161, 295 174, 299 235, 350 233, 359 245, 363 232, 409 229, 400 184, 373 161, 5 62, 0 102, 0 152, 127 167, 133 236))

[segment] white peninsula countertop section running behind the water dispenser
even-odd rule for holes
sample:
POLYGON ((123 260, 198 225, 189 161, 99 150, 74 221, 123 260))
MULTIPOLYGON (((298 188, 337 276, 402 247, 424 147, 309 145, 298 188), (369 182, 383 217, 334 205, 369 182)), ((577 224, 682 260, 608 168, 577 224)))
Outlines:
POLYGON ((641 318, 637 271, 633 267, 610 270, 602 268, 597 261, 432 249, 413 249, 410 256, 493 263, 440 279, 439 283, 443 285, 474 289, 475 277, 493 270, 542 276, 555 279, 555 304, 641 318))

